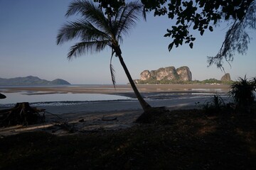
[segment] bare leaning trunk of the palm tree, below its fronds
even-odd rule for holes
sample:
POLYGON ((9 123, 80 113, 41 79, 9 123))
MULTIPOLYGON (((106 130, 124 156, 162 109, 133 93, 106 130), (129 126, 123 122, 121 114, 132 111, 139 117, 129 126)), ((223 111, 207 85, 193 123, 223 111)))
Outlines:
POLYGON ((134 81, 133 81, 133 79, 131 77, 131 74, 129 74, 129 70, 127 69, 127 66, 124 63, 124 60, 123 60, 122 55, 121 55, 121 50, 119 49, 118 51, 119 52, 116 51, 117 57, 119 58, 119 61, 120 61, 121 65, 122 65, 122 67, 124 69, 125 74, 127 74, 127 78, 129 80, 129 83, 132 86, 134 94, 137 96, 138 101, 139 101, 140 105, 142 106, 143 110, 144 111, 148 111, 151 108, 151 106, 149 105, 149 103, 146 103, 144 98, 142 98, 142 95, 139 93, 139 91, 137 89, 137 86, 134 84, 134 81))

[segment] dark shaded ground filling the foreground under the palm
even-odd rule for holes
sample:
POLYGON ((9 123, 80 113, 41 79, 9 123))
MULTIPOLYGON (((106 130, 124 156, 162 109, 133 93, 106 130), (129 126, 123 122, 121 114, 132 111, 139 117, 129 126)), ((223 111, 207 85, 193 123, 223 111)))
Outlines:
POLYGON ((0 140, 0 169, 256 169, 256 113, 176 110, 154 124, 0 140))

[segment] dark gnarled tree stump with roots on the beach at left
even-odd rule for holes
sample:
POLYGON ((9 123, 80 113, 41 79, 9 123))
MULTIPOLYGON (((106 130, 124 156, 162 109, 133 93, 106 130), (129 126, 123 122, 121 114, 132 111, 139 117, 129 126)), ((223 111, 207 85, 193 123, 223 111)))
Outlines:
POLYGON ((14 108, 0 110, 0 127, 42 123, 45 120, 45 111, 46 109, 31 108, 28 102, 16 103, 14 108))

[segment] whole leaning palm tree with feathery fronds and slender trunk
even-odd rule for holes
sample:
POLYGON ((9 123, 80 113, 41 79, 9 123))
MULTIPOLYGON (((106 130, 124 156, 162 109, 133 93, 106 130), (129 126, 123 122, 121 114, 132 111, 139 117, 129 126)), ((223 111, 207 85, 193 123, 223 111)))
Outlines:
POLYGON ((112 56, 110 58, 110 71, 112 75, 112 82, 115 84, 114 69, 111 61, 115 55, 119 58, 120 63, 124 69, 129 83, 137 96, 139 103, 144 111, 148 111, 149 106, 134 84, 134 81, 129 74, 126 64, 122 58, 122 50, 119 44, 122 42, 123 35, 126 35, 130 28, 134 27, 136 21, 143 12, 142 4, 139 2, 129 2, 125 6, 121 6, 112 16, 105 16, 104 12, 88 0, 76 0, 70 3, 68 11, 65 16, 73 16, 80 14, 81 18, 66 23, 60 28, 57 36, 57 44, 60 45, 68 40, 80 38, 80 42, 75 43, 70 47, 68 52, 68 59, 78 57, 88 52, 100 52, 106 47, 112 49, 112 56))

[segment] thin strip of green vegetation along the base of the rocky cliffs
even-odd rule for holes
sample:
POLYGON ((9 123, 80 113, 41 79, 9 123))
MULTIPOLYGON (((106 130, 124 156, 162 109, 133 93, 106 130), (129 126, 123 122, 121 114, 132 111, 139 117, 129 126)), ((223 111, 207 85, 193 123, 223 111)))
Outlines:
POLYGON ((181 80, 137 80, 137 84, 233 84, 233 81, 220 81, 218 79, 206 79, 203 81, 193 80, 193 81, 181 81, 181 80))

